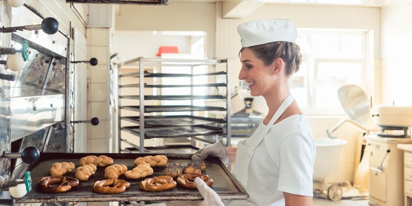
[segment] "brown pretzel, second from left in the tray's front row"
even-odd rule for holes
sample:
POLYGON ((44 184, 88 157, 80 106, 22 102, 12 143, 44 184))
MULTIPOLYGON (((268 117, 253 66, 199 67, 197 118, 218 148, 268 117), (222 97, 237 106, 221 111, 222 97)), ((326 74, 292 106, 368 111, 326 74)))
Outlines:
POLYGON ((104 179, 102 181, 96 181, 92 187, 94 192, 117 194, 124 192, 130 187, 130 183, 123 179, 104 179))

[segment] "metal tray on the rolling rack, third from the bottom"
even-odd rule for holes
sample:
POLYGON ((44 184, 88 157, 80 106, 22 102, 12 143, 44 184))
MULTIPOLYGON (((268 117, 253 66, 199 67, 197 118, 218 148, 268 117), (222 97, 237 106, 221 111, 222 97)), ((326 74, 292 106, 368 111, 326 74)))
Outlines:
MULTIPOLYGON (((140 124, 139 116, 122 117, 122 119, 136 124, 140 124)), ((144 116, 145 126, 188 126, 225 122, 225 119, 196 117, 193 115, 144 116)))

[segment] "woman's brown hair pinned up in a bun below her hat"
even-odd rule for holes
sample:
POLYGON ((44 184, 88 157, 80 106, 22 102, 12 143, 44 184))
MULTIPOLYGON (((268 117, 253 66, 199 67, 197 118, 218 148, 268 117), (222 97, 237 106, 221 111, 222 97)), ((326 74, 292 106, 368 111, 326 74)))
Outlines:
MULTIPOLYGON (((302 54, 300 53, 299 45, 286 41, 277 41, 266 43, 263 45, 255 45, 247 47, 251 49, 253 54, 264 62, 265 66, 269 66, 277 58, 282 58, 286 62, 286 75, 290 76, 299 71, 299 66, 302 63, 302 54)), ((244 47, 240 49, 240 53, 244 47)))

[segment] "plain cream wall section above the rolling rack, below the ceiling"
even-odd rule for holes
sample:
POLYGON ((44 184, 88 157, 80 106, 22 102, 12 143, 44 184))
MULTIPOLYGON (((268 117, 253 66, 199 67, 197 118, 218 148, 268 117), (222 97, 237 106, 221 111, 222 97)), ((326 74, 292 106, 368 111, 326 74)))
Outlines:
POLYGON ((119 31, 203 31, 206 54, 214 58, 215 4, 170 3, 167 6, 120 5, 115 15, 119 31))

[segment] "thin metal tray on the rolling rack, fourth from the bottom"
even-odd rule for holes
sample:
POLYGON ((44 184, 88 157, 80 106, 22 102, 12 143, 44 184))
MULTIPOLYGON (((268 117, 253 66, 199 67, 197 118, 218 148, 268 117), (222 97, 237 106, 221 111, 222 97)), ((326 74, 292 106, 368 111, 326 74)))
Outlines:
MULTIPOLYGON (((122 106, 123 109, 140 112, 140 106, 122 106)), ((176 111, 226 111, 224 107, 218 106, 191 106, 191 105, 158 105, 144 106, 145 113, 176 112, 176 111)))

